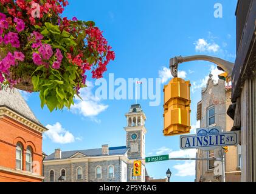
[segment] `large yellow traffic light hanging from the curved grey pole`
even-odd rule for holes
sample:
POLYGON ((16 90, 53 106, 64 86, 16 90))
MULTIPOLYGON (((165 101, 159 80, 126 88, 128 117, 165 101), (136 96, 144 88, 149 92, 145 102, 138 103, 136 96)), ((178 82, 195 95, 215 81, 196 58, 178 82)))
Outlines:
POLYGON ((181 78, 164 86, 164 136, 190 133, 190 86, 181 78))

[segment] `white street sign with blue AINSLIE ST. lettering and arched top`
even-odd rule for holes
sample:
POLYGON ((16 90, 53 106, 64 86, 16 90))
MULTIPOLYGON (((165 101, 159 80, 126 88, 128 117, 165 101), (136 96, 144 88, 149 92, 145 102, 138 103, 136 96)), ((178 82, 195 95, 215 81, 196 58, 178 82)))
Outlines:
POLYGON ((199 128, 195 135, 182 135, 180 137, 181 149, 214 150, 222 146, 236 146, 238 144, 237 132, 220 132, 220 127, 209 129, 199 128))

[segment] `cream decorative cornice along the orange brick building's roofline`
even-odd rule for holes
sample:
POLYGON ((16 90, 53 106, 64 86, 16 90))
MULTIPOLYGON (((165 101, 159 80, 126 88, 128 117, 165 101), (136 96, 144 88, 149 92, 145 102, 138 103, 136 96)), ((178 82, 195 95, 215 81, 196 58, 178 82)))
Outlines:
POLYGON ((10 109, 9 107, 2 105, 0 106, 0 118, 3 116, 7 116, 11 119, 14 119, 15 121, 19 122, 20 124, 26 125, 30 129, 35 130, 36 132, 46 132, 48 129, 44 127, 41 124, 36 123, 35 121, 32 121, 31 119, 27 118, 24 115, 19 114, 13 109, 10 109))

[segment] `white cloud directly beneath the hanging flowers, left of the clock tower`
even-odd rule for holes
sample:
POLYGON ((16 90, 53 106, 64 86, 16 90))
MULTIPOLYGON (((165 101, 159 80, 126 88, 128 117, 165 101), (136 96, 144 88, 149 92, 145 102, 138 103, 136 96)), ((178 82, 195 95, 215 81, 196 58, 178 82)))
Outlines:
MULTIPOLYGON (((86 85, 88 87, 80 89, 80 96, 83 101, 75 97, 75 104, 71 106, 72 113, 78 113, 85 117, 94 117, 99 115, 99 113, 105 111, 108 108, 108 105, 102 104, 100 102, 100 98, 93 95, 92 89, 94 85, 92 82, 87 81, 86 85)), ((94 121, 100 122, 97 119, 93 119, 94 121)))

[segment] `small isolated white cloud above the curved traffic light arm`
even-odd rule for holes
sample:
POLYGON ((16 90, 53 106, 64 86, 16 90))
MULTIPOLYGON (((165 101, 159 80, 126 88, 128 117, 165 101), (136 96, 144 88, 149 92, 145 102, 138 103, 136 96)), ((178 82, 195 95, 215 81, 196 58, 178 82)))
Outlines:
POLYGON ((220 46, 215 42, 208 43, 205 39, 199 38, 195 43, 196 52, 213 52, 216 53, 220 50, 220 46))

